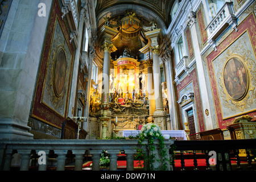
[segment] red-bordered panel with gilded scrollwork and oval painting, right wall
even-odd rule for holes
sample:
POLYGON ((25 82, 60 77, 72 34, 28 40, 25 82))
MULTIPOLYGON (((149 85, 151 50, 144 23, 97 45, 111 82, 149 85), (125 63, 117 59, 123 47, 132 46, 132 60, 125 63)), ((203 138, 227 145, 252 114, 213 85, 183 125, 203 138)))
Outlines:
POLYGON ((218 125, 230 125, 238 115, 256 108, 256 23, 250 14, 207 56, 218 125))

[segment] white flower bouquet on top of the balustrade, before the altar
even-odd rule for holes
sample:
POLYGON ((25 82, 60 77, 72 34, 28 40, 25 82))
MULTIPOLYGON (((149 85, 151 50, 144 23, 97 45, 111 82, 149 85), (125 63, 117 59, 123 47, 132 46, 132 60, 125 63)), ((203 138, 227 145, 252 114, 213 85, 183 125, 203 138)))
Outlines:
POLYGON ((154 123, 147 123, 147 125, 142 126, 141 135, 144 138, 158 139, 162 136, 162 133, 158 125, 154 123))

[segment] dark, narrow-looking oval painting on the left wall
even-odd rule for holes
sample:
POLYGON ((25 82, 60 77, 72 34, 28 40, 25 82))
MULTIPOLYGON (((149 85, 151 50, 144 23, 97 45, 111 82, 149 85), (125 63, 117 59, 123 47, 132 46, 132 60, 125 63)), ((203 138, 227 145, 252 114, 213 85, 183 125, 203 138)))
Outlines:
POLYGON ((63 92, 67 69, 66 55, 63 49, 60 49, 55 62, 55 91, 57 96, 63 92))

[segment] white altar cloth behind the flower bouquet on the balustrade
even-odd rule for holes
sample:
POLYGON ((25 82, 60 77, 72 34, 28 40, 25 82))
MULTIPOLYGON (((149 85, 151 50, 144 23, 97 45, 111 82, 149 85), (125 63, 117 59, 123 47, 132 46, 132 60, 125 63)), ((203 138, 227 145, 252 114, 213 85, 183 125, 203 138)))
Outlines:
MULTIPOLYGON (((123 130, 122 137, 137 136, 141 130, 123 130)), ((162 135, 179 138, 179 140, 187 140, 187 135, 184 130, 161 130, 162 135)))

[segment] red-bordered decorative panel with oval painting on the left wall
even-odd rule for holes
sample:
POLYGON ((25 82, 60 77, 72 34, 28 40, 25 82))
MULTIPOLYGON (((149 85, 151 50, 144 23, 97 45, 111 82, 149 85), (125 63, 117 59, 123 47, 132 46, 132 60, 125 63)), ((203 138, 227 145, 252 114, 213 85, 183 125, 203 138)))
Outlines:
POLYGON ((31 116, 59 128, 67 117, 71 88, 74 48, 70 39, 59 4, 53 1, 31 116))

